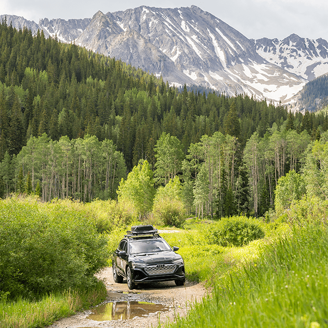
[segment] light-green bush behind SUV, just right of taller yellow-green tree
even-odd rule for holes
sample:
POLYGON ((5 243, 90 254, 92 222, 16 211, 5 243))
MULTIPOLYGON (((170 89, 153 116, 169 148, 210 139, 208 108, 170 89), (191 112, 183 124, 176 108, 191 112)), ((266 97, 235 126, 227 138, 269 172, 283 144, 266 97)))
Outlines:
POLYGON ((181 200, 181 183, 178 176, 170 179, 165 187, 157 189, 152 212, 155 219, 165 226, 184 226, 186 211, 181 200))

